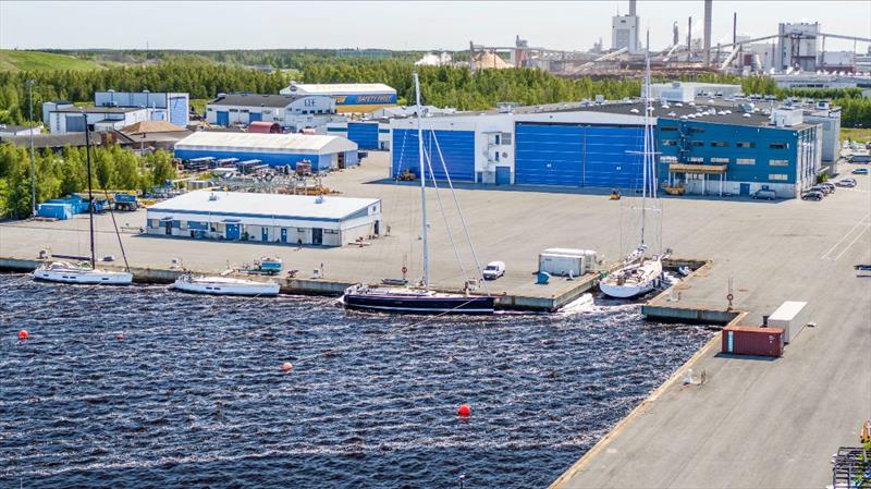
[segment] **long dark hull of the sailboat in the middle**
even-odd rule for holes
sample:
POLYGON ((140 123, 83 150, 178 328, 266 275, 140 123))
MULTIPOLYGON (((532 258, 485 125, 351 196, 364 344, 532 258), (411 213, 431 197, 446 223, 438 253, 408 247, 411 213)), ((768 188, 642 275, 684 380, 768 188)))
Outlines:
POLYGON ((345 307, 357 310, 409 314, 493 314, 493 297, 391 296, 346 294, 345 307))

